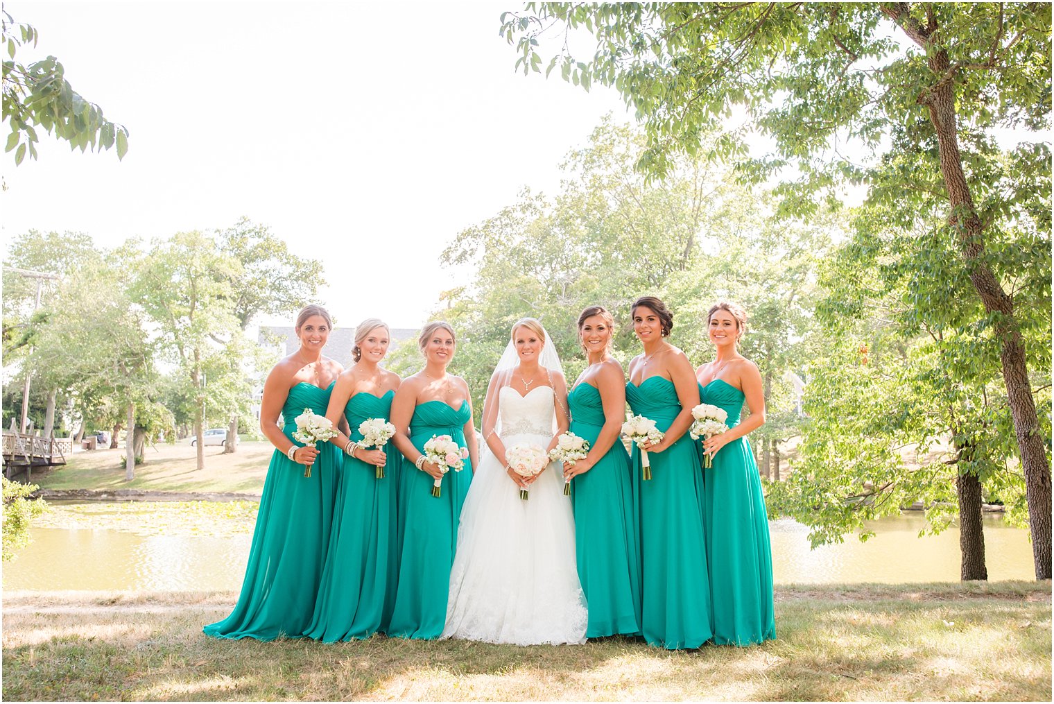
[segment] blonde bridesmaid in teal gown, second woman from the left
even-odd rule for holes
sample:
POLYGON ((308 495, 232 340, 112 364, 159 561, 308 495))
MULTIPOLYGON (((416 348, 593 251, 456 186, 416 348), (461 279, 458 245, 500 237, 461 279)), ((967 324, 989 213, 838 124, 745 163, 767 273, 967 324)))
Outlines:
POLYGON ((380 367, 389 341, 388 326, 377 318, 358 325, 351 350, 355 364, 337 377, 326 412, 334 427, 347 418, 351 435, 340 433, 330 442, 351 456, 345 457, 337 484, 314 619, 304 632, 325 643, 369 638, 382 625, 389 555, 395 542, 392 469, 398 463, 389 463, 383 449, 364 449, 354 443, 363 438, 358 432, 363 421, 387 421, 390 415, 399 377, 380 367), (377 478, 378 466, 385 468, 382 478, 377 478))

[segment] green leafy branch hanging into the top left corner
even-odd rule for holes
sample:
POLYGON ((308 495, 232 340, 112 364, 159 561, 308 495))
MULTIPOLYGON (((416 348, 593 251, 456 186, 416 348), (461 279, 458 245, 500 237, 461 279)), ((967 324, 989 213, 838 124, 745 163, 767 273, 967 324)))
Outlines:
POLYGON ((65 79, 65 69, 54 56, 25 65, 16 60, 25 44, 36 46, 39 34, 30 24, 18 23, 5 11, 2 41, 7 53, 3 62, 3 120, 11 125, 5 152, 15 152, 15 165, 26 154, 37 158, 37 131, 70 142, 71 149, 111 149, 123 159, 129 131, 102 115, 102 109, 82 98, 65 79))

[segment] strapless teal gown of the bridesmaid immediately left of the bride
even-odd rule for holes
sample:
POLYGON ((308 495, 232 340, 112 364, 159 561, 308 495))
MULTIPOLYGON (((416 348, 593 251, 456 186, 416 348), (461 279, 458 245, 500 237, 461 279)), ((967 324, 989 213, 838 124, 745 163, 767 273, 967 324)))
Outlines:
MULTIPOLYGON (((410 442, 419 451, 432 435, 450 435, 465 447, 468 402, 453 409, 442 400, 419 404, 410 419, 410 442)), ((443 633, 450 593, 450 568, 457 545, 457 521, 472 482, 472 463, 443 475, 440 496, 433 480, 403 459, 398 482, 398 569, 387 632, 396 638, 434 639, 443 633)))

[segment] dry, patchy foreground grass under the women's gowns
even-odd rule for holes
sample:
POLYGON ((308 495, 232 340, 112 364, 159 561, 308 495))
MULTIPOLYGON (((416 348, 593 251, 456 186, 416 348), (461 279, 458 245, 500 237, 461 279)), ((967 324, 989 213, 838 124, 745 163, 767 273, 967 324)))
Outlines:
POLYGON ((7 700, 1049 700, 1050 583, 784 587, 779 638, 667 652, 215 641, 233 593, 5 594, 7 700))

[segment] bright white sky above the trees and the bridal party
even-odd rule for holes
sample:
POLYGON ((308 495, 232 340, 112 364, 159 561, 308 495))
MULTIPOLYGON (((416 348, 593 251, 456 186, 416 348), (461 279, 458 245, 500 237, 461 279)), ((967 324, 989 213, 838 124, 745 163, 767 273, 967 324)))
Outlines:
POLYGON ((105 116, 129 152, 0 155, 4 240, 32 228, 102 247, 233 224, 269 226, 325 262, 321 302, 345 326, 427 319, 465 272, 436 269, 464 228, 553 192, 559 163, 611 111, 513 71, 509 3, 5 2, 105 116))

